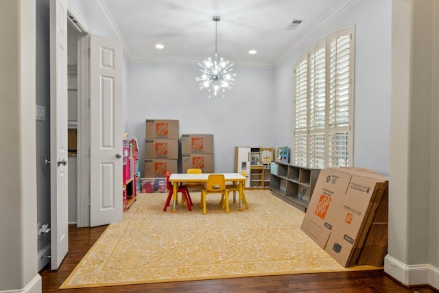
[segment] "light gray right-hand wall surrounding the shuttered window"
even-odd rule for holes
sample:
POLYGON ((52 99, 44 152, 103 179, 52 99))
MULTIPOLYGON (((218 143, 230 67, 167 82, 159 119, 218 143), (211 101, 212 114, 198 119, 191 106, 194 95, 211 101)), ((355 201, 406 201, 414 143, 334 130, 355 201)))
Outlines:
MULTIPOLYGON (((294 67, 298 60, 324 36, 355 25, 353 163, 388 174, 391 14, 390 0, 359 1, 279 62, 276 66, 276 104, 287 106, 276 108, 273 129, 293 128, 294 67), (372 18, 374 21, 370 21, 372 18)), ((293 132, 282 133, 280 143, 292 148, 293 132)))

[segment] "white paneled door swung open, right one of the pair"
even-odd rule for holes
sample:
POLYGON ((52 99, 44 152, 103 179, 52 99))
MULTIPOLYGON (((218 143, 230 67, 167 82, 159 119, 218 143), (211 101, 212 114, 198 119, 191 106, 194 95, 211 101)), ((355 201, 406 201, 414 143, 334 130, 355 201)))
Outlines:
POLYGON ((90 226, 120 222, 122 46, 90 36, 90 226))

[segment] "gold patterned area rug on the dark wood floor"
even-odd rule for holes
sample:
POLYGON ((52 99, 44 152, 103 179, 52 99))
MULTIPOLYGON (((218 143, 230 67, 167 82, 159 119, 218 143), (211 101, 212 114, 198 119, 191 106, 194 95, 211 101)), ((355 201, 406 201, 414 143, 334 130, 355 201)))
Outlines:
POLYGON ((192 211, 163 212, 166 197, 139 194, 60 288, 377 269, 340 266, 300 230, 305 213, 271 191, 246 191, 244 211, 230 195, 229 214, 220 195, 207 196, 206 215, 199 192, 191 192, 192 211))

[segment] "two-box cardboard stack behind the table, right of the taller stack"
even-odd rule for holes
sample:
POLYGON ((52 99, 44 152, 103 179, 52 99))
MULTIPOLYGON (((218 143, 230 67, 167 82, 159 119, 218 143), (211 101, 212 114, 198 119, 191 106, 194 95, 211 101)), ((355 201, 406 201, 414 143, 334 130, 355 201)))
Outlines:
POLYGON ((182 172, 189 168, 213 173, 213 134, 182 134, 182 172))

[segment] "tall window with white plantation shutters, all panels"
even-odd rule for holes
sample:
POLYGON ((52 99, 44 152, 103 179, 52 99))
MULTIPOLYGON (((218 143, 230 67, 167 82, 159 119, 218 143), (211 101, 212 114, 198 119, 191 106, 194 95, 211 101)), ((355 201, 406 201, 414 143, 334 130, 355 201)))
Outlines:
POLYGON ((295 69, 294 163, 349 166, 353 156, 353 30, 328 36, 295 69))

